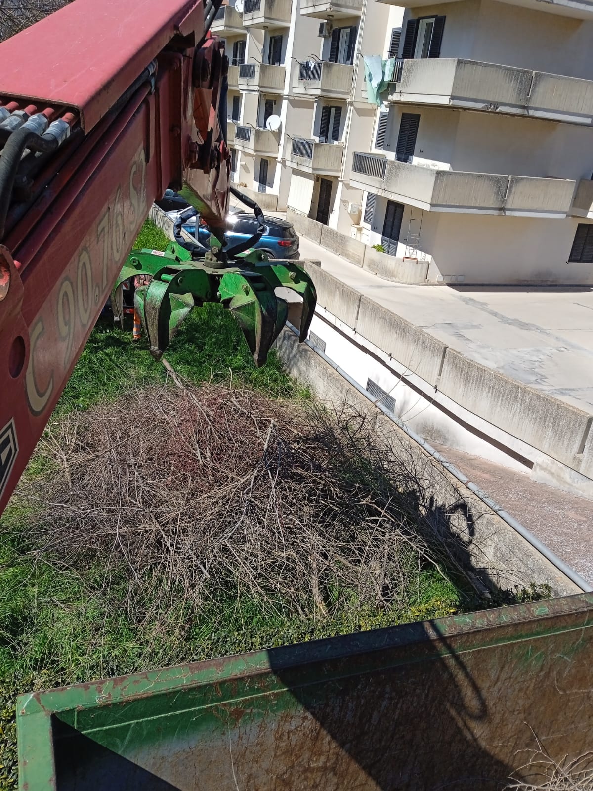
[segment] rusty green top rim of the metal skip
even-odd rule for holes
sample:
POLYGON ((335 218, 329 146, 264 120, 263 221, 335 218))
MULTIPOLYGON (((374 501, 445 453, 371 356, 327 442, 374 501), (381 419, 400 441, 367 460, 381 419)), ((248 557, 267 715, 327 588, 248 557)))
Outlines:
MULTIPOLYGON (((326 680, 343 678, 591 625, 593 593, 584 593, 21 694, 17 698, 21 774, 26 778, 31 764, 53 766, 54 714, 126 704, 183 689, 211 688, 222 681, 249 677, 255 682, 253 694, 268 694, 289 688, 277 678, 279 673, 286 678, 286 671, 293 671, 289 676, 294 676, 295 683, 304 679, 304 674, 310 679, 312 673, 326 680)), ((209 698, 207 695, 206 702, 209 698)))

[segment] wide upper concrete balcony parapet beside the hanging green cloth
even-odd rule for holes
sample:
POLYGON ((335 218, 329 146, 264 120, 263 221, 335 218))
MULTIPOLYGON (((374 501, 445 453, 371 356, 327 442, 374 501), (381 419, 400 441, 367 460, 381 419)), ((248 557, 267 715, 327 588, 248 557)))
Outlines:
POLYGON ((398 61, 389 99, 591 124, 593 81, 458 58, 398 61))

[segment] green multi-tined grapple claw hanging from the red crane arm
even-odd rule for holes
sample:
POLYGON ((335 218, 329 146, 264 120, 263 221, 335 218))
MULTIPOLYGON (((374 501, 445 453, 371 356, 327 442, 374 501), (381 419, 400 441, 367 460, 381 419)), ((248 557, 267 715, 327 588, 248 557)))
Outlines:
POLYGON ((164 252, 134 250, 128 255, 111 293, 115 318, 123 315, 123 282, 138 274, 151 278, 148 285, 136 289, 134 308, 157 359, 192 308, 205 302, 221 302, 229 308, 258 368, 265 364, 288 316, 287 302, 275 290, 289 289, 302 297, 301 342, 315 311, 315 286, 296 264, 270 263, 265 254, 252 251, 237 256, 232 265, 210 267, 172 242, 164 252))

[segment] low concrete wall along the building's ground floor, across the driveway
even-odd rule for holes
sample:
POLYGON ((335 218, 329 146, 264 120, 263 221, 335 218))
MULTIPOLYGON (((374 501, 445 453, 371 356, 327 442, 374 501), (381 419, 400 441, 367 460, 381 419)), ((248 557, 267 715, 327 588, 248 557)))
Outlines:
POLYGON ((346 234, 328 228, 327 225, 322 225, 290 208, 286 211, 286 219, 293 223, 296 233, 301 237, 310 239, 331 252, 339 252, 347 261, 355 263, 357 267, 363 267, 384 280, 407 283, 411 286, 424 286, 427 282, 428 261, 404 261, 395 258, 394 255, 378 252, 368 244, 347 237, 346 234))

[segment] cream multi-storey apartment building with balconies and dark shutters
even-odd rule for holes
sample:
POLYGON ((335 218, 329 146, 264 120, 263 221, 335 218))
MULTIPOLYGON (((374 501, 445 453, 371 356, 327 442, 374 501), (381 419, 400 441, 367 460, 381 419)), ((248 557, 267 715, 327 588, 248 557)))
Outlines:
POLYGON ((237 2, 233 172, 264 208, 425 282, 593 283, 590 3, 237 2), (380 107, 363 55, 396 58, 380 107))

